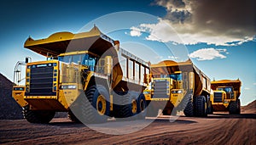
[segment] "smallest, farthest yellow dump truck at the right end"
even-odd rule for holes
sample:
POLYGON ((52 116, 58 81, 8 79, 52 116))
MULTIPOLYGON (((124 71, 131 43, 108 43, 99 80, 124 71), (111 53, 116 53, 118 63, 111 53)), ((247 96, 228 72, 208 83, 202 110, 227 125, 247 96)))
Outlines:
POLYGON ((213 90, 212 111, 229 111, 230 114, 240 114, 240 80, 212 81, 211 87, 213 90))

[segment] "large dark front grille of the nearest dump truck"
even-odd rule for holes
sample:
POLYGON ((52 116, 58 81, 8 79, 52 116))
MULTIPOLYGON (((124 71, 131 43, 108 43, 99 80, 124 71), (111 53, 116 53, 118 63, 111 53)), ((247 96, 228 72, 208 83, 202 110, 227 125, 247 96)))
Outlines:
POLYGON ((53 92, 53 75, 54 67, 52 64, 44 66, 32 65, 30 71, 30 91, 26 96, 54 96, 53 92))

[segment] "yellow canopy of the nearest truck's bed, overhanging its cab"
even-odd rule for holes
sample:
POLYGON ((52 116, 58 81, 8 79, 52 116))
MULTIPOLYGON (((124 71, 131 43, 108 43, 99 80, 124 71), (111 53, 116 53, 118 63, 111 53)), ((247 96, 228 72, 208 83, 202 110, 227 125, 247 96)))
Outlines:
POLYGON ((114 41, 102 34, 95 26, 87 32, 73 34, 71 32, 57 32, 48 38, 33 40, 29 37, 24 47, 44 56, 58 56, 61 53, 90 50, 101 55, 109 47, 113 47, 114 41), (95 52, 96 50, 96 52, 95 52))

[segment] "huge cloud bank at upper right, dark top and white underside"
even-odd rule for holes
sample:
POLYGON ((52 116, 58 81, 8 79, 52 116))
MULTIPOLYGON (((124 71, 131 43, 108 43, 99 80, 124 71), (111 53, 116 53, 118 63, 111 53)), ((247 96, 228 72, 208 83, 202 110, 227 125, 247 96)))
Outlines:
POLYGON ((155 24, 131 27, 131 36, 141 36, 141 31, 147 31, 149 35, 146 39, 150 41, 183 44, 205 42, 217 46, 237 46, 255 41, 253 1, 241 3, 234 0, 234 3, 228 3, 215 0, 198 3, 196 0, 154 0, 152 4, 166 8, 166 15, 155 24), (230 6, 235 10, 227 13, 226 8, 230 6))

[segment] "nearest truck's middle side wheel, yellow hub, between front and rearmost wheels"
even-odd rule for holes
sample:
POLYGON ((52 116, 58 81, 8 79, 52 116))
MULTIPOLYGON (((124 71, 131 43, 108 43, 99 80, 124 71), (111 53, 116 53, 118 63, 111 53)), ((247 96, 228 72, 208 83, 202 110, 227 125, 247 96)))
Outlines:
POLYGON ((137 95, 128 92, 115 98, 115 118, 117 120, 135 120, 137 114, 137 95))

